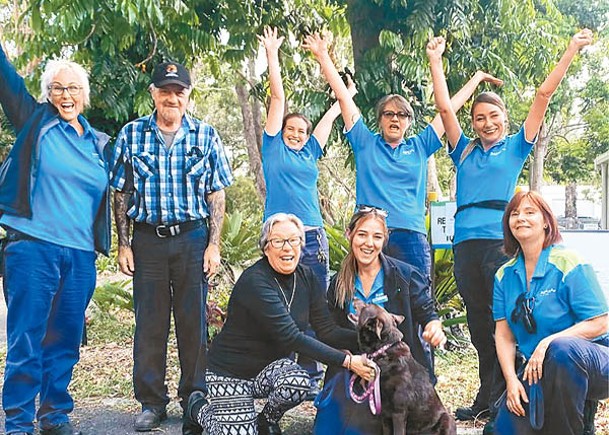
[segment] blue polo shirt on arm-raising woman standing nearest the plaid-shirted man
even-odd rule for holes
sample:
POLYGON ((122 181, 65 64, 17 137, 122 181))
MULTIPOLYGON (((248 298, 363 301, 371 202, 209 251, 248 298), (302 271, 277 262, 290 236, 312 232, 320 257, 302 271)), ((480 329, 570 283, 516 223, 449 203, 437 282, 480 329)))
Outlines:
POLYGON ((288 147, 281 132, 262 135, 262 170, 266 182, 264 220, 275 213, 292 213, 310 227, 321 227, 317 160, 321 145, 311 135, 298 151, 288 147))

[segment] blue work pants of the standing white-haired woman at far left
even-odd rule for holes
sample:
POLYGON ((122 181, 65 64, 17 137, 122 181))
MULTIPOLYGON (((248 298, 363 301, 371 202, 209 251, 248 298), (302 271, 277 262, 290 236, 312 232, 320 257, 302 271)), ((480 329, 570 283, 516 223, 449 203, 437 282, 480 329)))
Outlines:
POLYGON ((7 433, 33 433, 38 394, 43 429, 68 422, 74 408, 68 385, 95 289, 96 254, 19 234, 9 232, 4 251, 8 312, 2 406, 7 433))

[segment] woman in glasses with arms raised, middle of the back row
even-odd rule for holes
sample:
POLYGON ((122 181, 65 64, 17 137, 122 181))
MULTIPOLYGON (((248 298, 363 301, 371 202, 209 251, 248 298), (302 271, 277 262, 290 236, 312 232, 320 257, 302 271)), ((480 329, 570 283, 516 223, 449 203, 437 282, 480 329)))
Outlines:
MULTIPOLYGON (((345 136, 355 157, 356 203, 382 207, 389 212, 385 252, 418 268, 429 278, 431 255, 425 228, 427 159, 442 147, 442 120, 436 116, 421 133, 406 138, 414 122, 412 106, 401 95, 386 95, 376 106, 380 132, 372 132, 338 74, 327 42, 317 34, 309 35, 304 47, 319 62, 340 103, 345 136)), ((459 110, 485 81, 502 84, 490 74, 477 72, 454 96, 454 109, 459 110)))

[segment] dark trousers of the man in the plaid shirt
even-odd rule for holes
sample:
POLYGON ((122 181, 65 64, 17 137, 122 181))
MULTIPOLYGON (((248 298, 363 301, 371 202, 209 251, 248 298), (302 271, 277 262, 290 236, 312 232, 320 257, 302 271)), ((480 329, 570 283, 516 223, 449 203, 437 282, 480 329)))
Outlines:
POLYGON ((178 396, 186 406, 190 393, 205 391, 207 281, 203 253, 207 227, 175 237, 134 231, 133 387, 142 408, 164 409, 169 403, 165 385, 167 338, 173 309, 181 377, 178 396))

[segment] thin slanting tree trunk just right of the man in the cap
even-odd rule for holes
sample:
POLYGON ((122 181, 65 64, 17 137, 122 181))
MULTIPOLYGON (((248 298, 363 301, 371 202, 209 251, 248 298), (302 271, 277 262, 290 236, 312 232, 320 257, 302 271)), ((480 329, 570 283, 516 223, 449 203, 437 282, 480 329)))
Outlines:
MULTIPOLYGON (((237 99, 243 116, 243 136, 247 147, 247 156, 250 171, 256 183, 256 192, 262 204, 266 198, 266 184, 262 173, 262 158, 260 156, 260 142, 262 140, 262 127, 260 122, 260 103, 250 103, 249 92, 245 84, 235 85, 237 99), (258 113, 256 114, 256 110, 258 113)), ((253 99, 255 101, 255 99, 253 99)))

